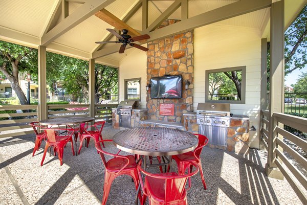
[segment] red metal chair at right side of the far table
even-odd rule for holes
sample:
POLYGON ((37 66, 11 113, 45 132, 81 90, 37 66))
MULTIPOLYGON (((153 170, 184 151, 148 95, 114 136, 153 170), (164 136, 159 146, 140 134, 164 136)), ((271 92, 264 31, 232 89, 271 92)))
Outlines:
MULTIPOLYGON (((79 136, 80 136, 80 146, 79 146, 79 150, 78 150, 78 154, 80 154, 80 151, 81 151, 81 148, 82 148, 82 143, 83 143, 83 140, 86 139, 86 147, 89 147, 89 143, 90 143, 90 140, 91 138, 94 139, 95 141, 95 144, 99 141, 99 140, 102 140, 102 129, 103 129, 103 126, 104 126, 104 123, 105 121, 100 121, 100 122, 96 122, 94 123, 94 125, 89 125, 89 126, 86 126, 84 128, 84 132, 83 133, 80 133, 79 132, 79 136), (98 126, 100 126, 100 128, 98 128, 98 126), (92 128, 95 128, 95 130, 91 130, 92 128)), ((103 145, 103 144, 102 144, 103 145)), ((103 145, 103 148, 104 148, 104 145, 103 145)), ((98 152, 97 152, 98 153, 98 152)))

